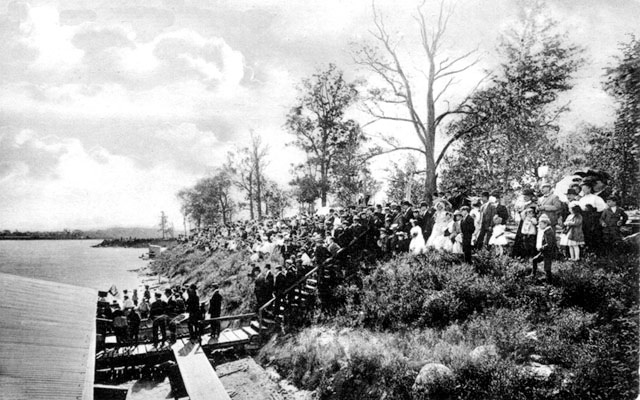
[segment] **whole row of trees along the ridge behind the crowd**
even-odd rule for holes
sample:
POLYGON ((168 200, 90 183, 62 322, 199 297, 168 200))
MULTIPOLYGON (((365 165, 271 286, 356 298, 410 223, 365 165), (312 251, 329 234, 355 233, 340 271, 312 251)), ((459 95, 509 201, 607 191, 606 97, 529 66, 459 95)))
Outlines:
POLYGON ((477 63, 476 52, 452 56, 445 48, 452 9, 442 3, 430 21, 426 7, 425 2, 415 15, 420 48, 407 49, 406 54, 399 50, 405 49, 399 46, 401 39, 389 33, 384 16, 374 7, 372 40, 354 48, 354 60, 372 73, 371 82, 349 81, 334 64, 302 81, 284 125, 293 138, 291 145, 306 155, 303 163, 292 165, 290 188, 265 175, 269 147, 252 131, 249 146, 230 153, 213 174, 179 192, 184 215, 200 226, 227 222, 240 209, 248 210, 251 218, 278 217, 293 205, 291 200, 306 209, 318 200, 328 205, 329 196, 332 205, 366 201, 381 187, 376 180, 380 177, 370 172, 370 161, 393 152, 410 154, 389 165, 390 199, 406 197, 401 188, 407 187, 428 201, 438 188, 527 186, 539 179, 539 167, 548 165, 552 178, 586 166, 609 171, 623 204, 637 205, 637 38, 621 44, 621 55, 603 74, 603 87, 617 105, 615 123, 580 125, 566 133, 560 132, 558 119, 569 104, 559 98, 572 88, 574 74, 584 65, 584 49, 571 43, 540 5, 525 8, 519 23, 502 33, 499 66, 487 71, 455 105, 448 92, 477 63), (421 74, 403 61, 407 56, 423 61, 421 74), (410 137, 379 132, 381 121, 385 127, 410 127, 405 133, 410 137), (444 138, 437 154, 436 134, 444 138), (373 137, 378 138, 375 143, 373 137), (241 193, 241 200, 234 200, 234 191, 241 193))

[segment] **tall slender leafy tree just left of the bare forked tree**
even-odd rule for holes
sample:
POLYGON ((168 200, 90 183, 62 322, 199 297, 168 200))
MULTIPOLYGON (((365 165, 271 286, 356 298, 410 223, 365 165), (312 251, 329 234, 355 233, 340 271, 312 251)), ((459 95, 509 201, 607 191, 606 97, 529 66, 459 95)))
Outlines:
MULTIPOLYGON (((337 157, 346 149, 357 147, 363 135, 359 125, 345 119, 345 112, 357 99, 356 84, 347 82, 342 71, 329 64, 324 71, 302 82, 297 105, 287 115, 286 128, 295 136, 295 144, 307 154, 308 176, 295 179, 294 184, 315 184, 322 206, 331 192, 331 175, 337 157)), ((313 191, 299 191, 303 202, 313 191), (306 195, 302 195, 306 193, 306 195)))

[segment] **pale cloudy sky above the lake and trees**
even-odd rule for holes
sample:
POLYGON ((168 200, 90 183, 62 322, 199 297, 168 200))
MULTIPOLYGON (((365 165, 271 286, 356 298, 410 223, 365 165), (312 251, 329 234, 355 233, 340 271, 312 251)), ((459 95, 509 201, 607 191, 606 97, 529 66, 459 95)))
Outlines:
MULTIPOLYGON (((481 62, 452 99, 495 66, 520 3, 456 2, 447 51, 478 47, 481 62)), ((416 3, 376 5, 418 74, 416 3)), ((563 129, 610 121, 602 69, 640 35, 640 1, 549 0, 548 10, 588 59, 563 129)), ((296 85, 329 62, 370 78, 351 50, 371 40, 371 16, 368 0, 0 2, 0 229, 154 226, 161 210, 181 226, 176 192, 250 129, 270 145, 267 173, 286 183, 300 157, 283 129, 296 85)), ((414 140, 405 126, 369 133, 381 131, 414 140)))

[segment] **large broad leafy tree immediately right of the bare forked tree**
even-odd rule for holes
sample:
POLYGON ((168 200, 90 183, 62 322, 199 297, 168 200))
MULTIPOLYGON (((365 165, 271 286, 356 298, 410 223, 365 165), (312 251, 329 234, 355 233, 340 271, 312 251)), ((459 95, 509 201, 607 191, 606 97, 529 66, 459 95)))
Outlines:
POLYGON ((500 51, 499 75, 469 99, 474 112, 448 126, 446 147, 457 140, 458 151, 444 157, 445 182, 506 189, 535 181, 541 165, 566 166, 556 120, 568 106, 555 103, 571 88, 582 49, 534 6, 502 36, 500 51))

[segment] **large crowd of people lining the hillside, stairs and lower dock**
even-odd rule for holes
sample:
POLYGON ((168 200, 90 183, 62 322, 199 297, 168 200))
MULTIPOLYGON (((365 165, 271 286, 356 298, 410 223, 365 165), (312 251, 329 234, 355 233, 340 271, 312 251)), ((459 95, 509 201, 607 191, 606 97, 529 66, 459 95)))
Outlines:
MULTIPOLYGON (((459 187, 432 202, 417 205, 407 200, 354 205, 330 209, 326 215, 210 226, 194 232, 185 242, 211 252, 249 252, 257 307, 274 299, 275 310, 290 301, 285 296, 288 287, 314 266, 323 268, 326 260, 339 258, 347 247, 374 259, 406 252, 419 256, 438 250, 459 254, 468 263, 474 252, 488 248, 498 257, 530 259, 533 277, 542 263, 550 281, 554 259, 579 260, 585 249, 603 252, 614 249, 621 241, 620 228, 627 215, 606 183, 603 175, 586 176, 574 182, 562 200, 549 182, 540 183, 538 190, 524 188, 517 195, 508 196, 498 191, 470 195, 459 187)), ((319 272, 320 280, 327 276, 322 270, 319 272)), ((339 273, 349 272, 352 271, 339 273)), ((319 286, 323 283, 326 284, 319 282, 319 286)), ((322 295, 322 288, 319 290, 322 295)), ((220 316, 222 301, 217 288, 214 293, 217 295, 209 307, 211 318, 220 316)), ((196 321, 204 310, 197 306, 195 289, 167 289, 164 297, 156 293, 155 298, 150 302, 151 295, 146 290, 138 303, 135 291, 131 300, 125 294, 123 310, 105 314, 105 318, 114 319, 114 330, 123 340, 136 340, 134 332, 140 318, 151 318, 157 343, 156 330, 164 332, 169 325, 167 316, 188 311, 197 315, 193 322, 190 318, 191 337, 199 338, 201 329, 196 321), (116 324, 116 318, 127 320, 128 331, 121 328, 124 322, 116 324)), ((212 323, 211 330, 214 334, 219 332, 219 324, 212 323)))

